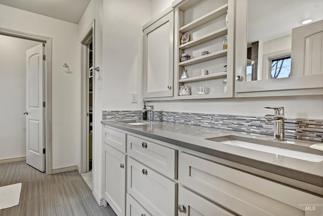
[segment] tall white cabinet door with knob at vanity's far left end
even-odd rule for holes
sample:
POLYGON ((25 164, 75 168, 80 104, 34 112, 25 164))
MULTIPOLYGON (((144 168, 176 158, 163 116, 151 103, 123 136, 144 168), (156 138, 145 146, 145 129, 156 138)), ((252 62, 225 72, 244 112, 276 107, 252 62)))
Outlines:
POLYGON ((126 158, 126 154, 103 143, 103 196, 118 216, 125 216, 126 158))

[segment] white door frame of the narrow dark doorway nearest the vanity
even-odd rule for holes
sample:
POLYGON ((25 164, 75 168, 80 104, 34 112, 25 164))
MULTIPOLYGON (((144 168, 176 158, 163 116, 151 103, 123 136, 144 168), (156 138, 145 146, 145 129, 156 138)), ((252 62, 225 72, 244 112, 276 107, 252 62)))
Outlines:
MULTIPOLYGON (((87 45, 89 44, 89 41, 92 40, 92 65, 93 68, 95 67, 95 20, 90 24, 90 26, 86 29, 85 33, 81 37, 81 161, 80 161, 80 169, 79 172, 83 173, 87 171, 87 163, 88 163, 88 139, 87 139, 87 45)), ((94 112, 94 102, 95 102, 95 70, 93 70, 93 78, 92 78, 92 131, 94 132, 95 128, 95 112, 94 112)), ((92 172, 94 173, 94 133, 92 133, 92 172)), ((92 178, 93 178, 92 173, 92 178)))

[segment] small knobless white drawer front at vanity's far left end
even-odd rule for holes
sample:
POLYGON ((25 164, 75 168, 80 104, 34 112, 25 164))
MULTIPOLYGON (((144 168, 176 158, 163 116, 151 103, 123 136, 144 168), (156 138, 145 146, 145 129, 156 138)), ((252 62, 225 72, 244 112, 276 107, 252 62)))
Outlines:
POLYGON ((111 129, 103 125, 102 129, 102 140, 103 143, 118 149, 121 152, 126 153, 126 137, 125 133, 111 129))

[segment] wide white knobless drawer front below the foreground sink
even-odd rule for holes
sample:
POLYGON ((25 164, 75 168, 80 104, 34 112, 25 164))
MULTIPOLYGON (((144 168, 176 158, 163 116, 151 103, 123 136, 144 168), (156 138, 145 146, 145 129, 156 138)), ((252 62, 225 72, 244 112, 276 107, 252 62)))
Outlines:
POLYGON ((178 175, 185 187, 238 214, 320 215, 322 211, 321 206, 311 212, 301 205, 321 203, 320 197, 183 152, 178 175))

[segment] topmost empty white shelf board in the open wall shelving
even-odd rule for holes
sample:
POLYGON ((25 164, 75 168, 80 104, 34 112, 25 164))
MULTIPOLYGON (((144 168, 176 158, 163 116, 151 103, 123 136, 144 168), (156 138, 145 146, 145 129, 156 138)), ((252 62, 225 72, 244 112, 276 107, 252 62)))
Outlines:
POLYGON ((211 21, 213 19, 216 19, 217 17, 220 17, 220 16, 226 14, 227 10, 228 10, 228 4, 226 4, 220 8, 217 8, 216 10, 211 11, 208 14, 205 14, 204 16, 194 20, 193 22, 188 23, 187 25, 181 27, 179 31, 181 33, 185 33, 187 31, 190 31, 196 27, 199 27, 200 25, 207 23, 208 21, 211 21))

